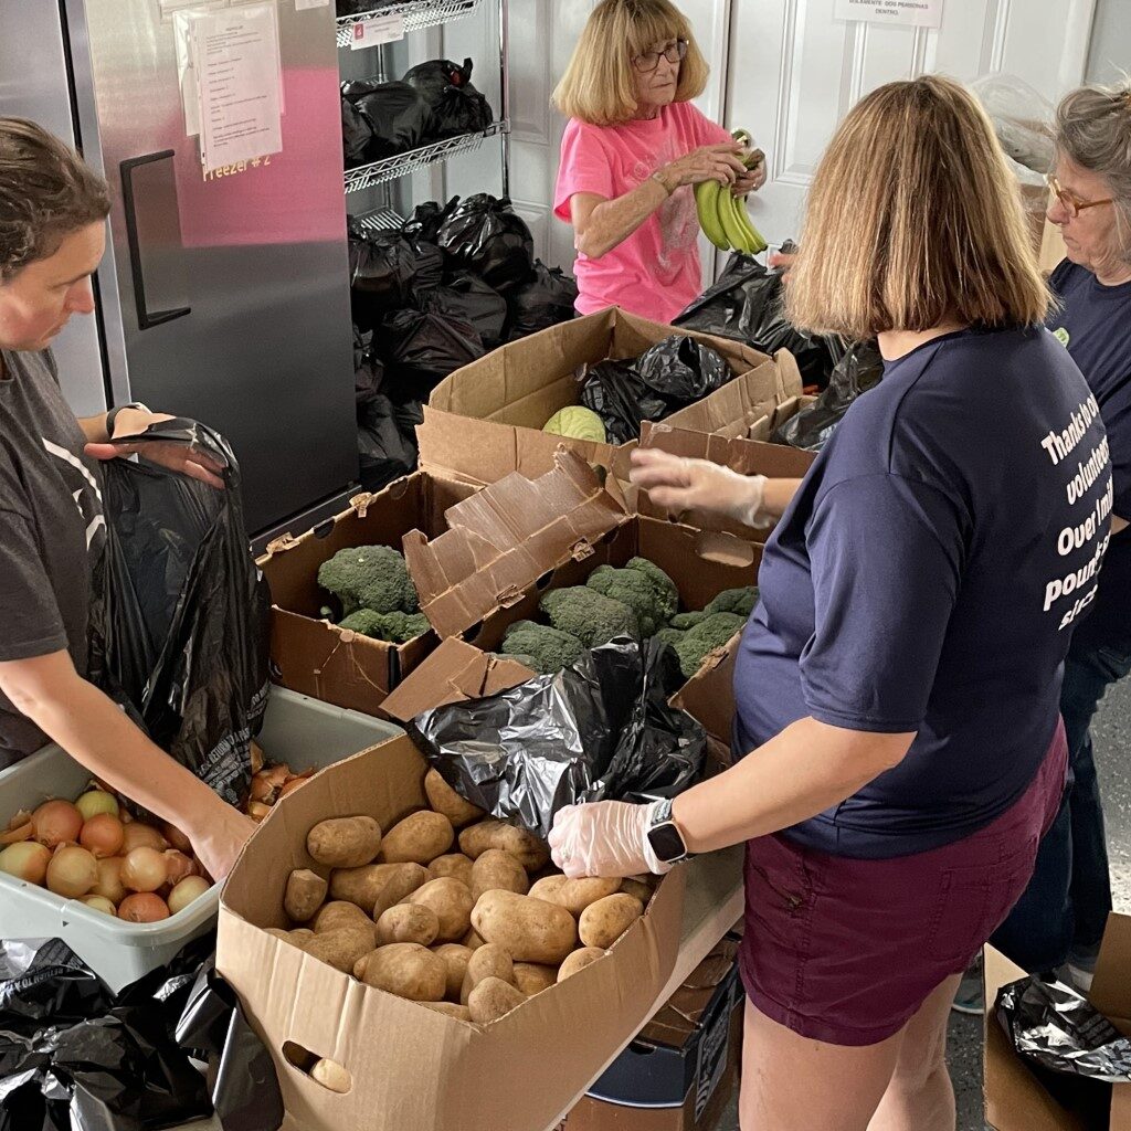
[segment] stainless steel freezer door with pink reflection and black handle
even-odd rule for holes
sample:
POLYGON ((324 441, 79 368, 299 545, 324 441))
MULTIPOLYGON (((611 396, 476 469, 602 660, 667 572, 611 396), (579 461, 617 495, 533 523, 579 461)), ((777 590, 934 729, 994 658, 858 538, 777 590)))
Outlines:
POLYGON ((228 438, 254 532, 357 477, 334 8, 277 3, 283 150, 205 179, 183 7, 85 0, 129 391, 228 438))

